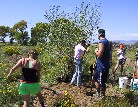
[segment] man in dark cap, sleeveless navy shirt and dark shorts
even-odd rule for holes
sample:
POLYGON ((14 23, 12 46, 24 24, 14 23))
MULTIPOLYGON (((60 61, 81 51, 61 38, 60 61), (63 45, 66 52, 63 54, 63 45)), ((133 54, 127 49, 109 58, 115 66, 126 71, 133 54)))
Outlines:
POLYGON ((105 30, 98 30, 98 39, 100 40, 98 48, 95 49, 97 56, 96 69, 94 72, 94 81, 96 86, 96 95, 104 98, 106 91, 106 80, 110 68, 110 42, 105 38, 105 30))

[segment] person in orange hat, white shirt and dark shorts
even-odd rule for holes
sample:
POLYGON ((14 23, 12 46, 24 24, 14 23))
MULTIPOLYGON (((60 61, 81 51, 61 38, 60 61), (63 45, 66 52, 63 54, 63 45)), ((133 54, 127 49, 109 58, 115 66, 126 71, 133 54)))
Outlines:
POLYGON ((121 76, 123 73, 123 66, 125 64, 126 58, 125 58, 125 49, 124 49, 124 45, 120 44, 119 49, 117 50, 117 64, 112 72, 112 76, 115 79, 115 72, 118 69, 119 65, 121 66, 121 76))

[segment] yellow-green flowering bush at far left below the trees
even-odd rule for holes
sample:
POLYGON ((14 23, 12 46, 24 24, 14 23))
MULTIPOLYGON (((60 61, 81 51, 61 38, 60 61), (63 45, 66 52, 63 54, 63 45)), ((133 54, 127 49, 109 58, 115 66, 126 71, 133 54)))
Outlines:
POLYGON ((13 54, 20 54, 20 49, 15 46, 7 46, 3 48, 4 54, 6 55, 13 55, 13 54))

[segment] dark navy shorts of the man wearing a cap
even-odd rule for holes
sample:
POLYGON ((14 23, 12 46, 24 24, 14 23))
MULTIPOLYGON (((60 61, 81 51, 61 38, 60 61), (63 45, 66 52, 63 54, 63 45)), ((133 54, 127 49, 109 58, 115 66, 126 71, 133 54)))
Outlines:
POLYGON ((109 70, 102 70, 102 71, 95 70, 94 81, 100 83, 101 87, 105 87, 105 83, 107 81, 108 74, 109 74, 109 70))

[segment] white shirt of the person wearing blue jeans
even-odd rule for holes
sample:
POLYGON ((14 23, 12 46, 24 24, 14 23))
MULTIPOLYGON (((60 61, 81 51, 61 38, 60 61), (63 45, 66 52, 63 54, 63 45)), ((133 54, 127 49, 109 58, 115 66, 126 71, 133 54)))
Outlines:
POLYGON ((76 45, 74 50, 75 51, 74 58, 82 59, 84 50, 86 49, 81 44, 76 45))

